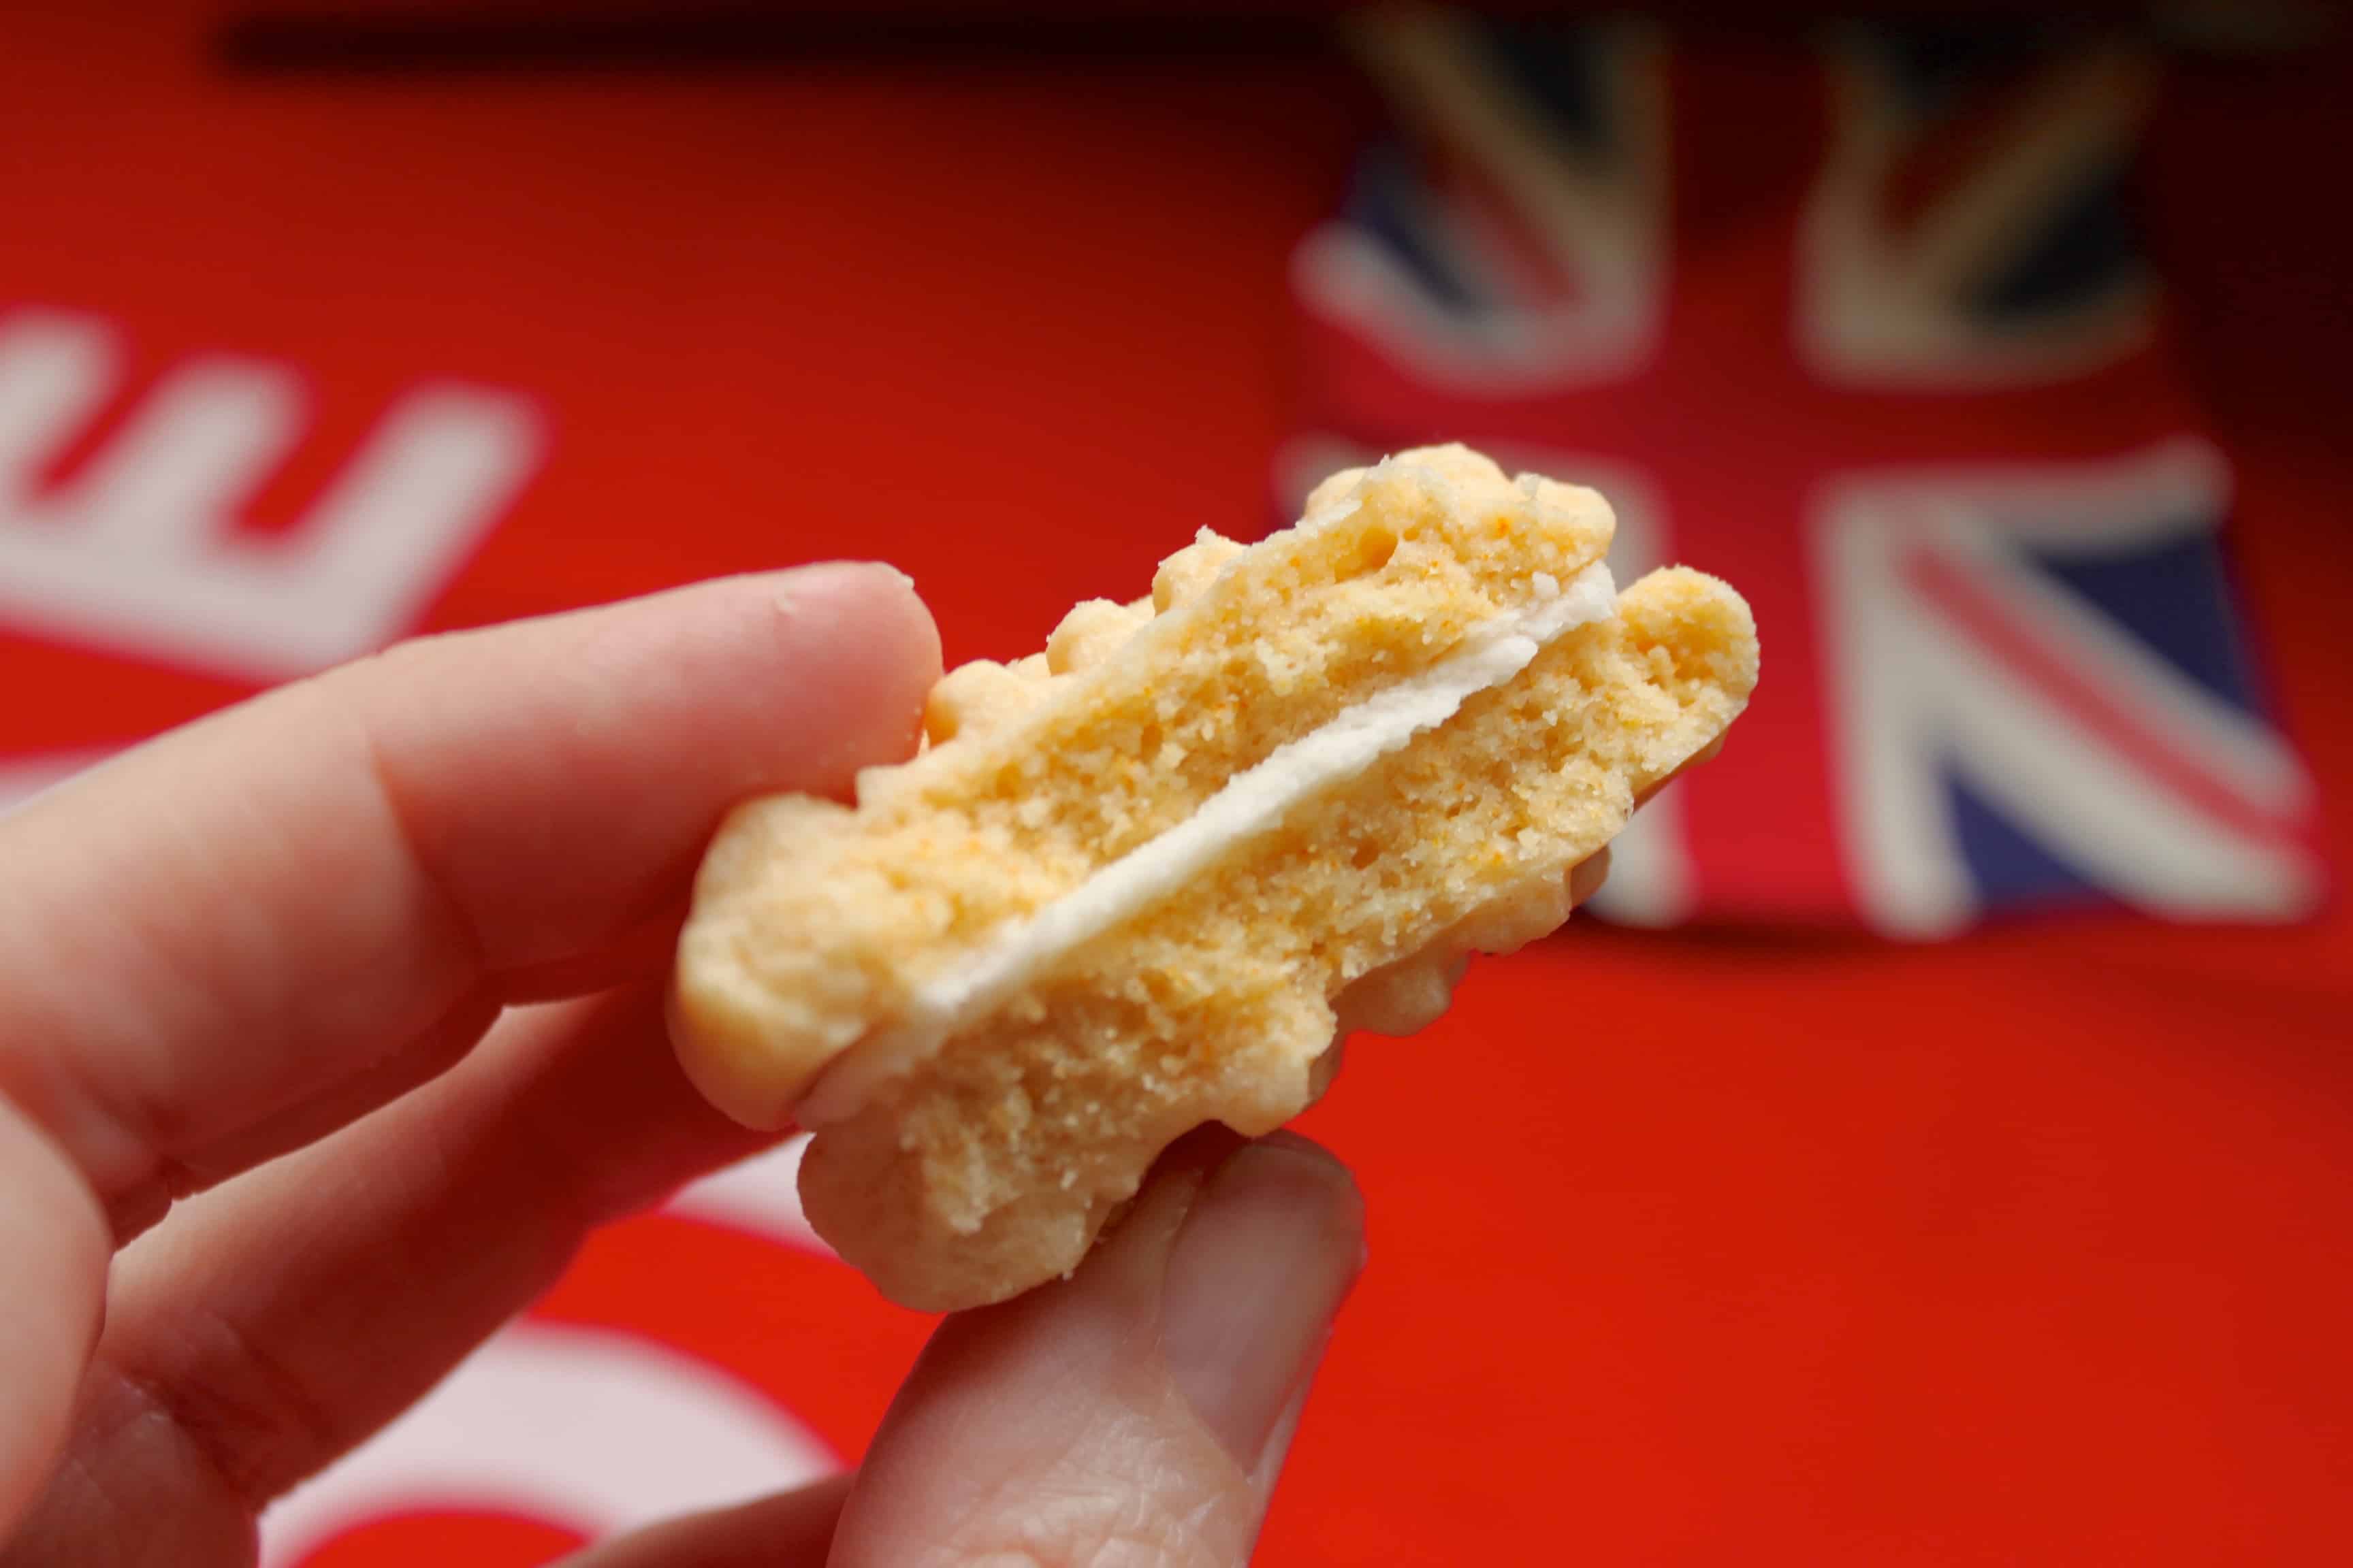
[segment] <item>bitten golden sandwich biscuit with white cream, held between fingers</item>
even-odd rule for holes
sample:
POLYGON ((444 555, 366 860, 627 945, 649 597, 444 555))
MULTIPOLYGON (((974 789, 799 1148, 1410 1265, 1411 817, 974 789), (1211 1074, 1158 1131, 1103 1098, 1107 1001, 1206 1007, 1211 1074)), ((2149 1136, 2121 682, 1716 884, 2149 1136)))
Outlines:
POLYGON ((696 1086, 816 1131, 809 1220, 951 1309, 1071 1269, 1205 1121, 1264 1133, 1344 1027, 1435 1018, 1758 675, 1732 588, 1619 595, 1609 508, 1461 447, 1327 480, 1045 654, 951 670, 856 809, 720 830, 678 954, 696 1086))

